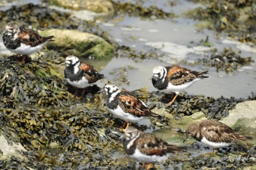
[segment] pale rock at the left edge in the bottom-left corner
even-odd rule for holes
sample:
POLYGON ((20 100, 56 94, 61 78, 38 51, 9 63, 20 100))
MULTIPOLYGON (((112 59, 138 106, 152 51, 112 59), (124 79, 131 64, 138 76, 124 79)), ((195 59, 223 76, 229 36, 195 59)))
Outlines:
POLYGON ((1 159, 8 158, 11 156, 20 157, 21 159, 25 159, 23 155, 20 154, 20 151, 26 151, 26 149, 19 143, 15 144, 15 142, 12 142, 12 144, 8 144, 8 141, 5 139, 3 135, 0 134, 0 150, 1 159))

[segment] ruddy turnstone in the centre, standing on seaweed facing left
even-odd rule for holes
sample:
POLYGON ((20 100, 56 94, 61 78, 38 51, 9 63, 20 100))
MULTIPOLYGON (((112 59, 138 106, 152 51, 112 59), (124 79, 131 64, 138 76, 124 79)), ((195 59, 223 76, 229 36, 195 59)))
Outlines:
POLYGON ((106 107, 109 112, 125 121, 123 128, 130 123, 137 123, 145 116, 161 118, 161 116, 149 110, 147 105, 126 89, 120 89, 114 84, 106 84, 106 107))

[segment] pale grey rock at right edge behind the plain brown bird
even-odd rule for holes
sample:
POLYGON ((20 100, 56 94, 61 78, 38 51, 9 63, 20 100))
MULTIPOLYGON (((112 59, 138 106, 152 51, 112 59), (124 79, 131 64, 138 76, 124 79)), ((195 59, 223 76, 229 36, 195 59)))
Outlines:
MULTIPOLYGON (((256 118, 256 101, 245 101, 238 103, 234 110, 229 111, 229 116, 222 119, 222 123, 225 123, 229 127, 233 127, 240 118, 256 118)), ((245 123, 246 124, 246 123, 245 123)))

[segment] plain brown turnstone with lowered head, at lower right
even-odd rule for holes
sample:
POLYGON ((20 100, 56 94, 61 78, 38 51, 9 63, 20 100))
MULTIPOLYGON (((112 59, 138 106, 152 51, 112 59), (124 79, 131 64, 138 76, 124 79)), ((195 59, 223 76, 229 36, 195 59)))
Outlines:
MULTIPOLYGON (((184 142, 187 137, 193 137, 202 144, 214 149, 228 147, 232 141, 252 140, 252 137, 240 135, 228 127, 228 125, 215 120, 203 120, 199 123, 192 123, 186 128, 184 142)), ((214 150, 214 152, 216 151, 214 150)))

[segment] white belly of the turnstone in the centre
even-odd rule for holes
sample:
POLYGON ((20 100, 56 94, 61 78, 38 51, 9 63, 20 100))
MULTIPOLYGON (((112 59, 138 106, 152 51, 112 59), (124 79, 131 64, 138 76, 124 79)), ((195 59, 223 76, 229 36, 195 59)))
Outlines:
POLYGON ((109 110, 111 113, 113 113, 113 115, 117 116, 121 120, 124 120, 125 122, 137 123, 143 119, 143 116, 137 117, 131 115, 130 113, 125 113, 125 111, 123 111, 120 106, 118 106, 118 108, 116 108, 115 110, 111 110, 109 108, 107 108, 107 110, 109 110))

